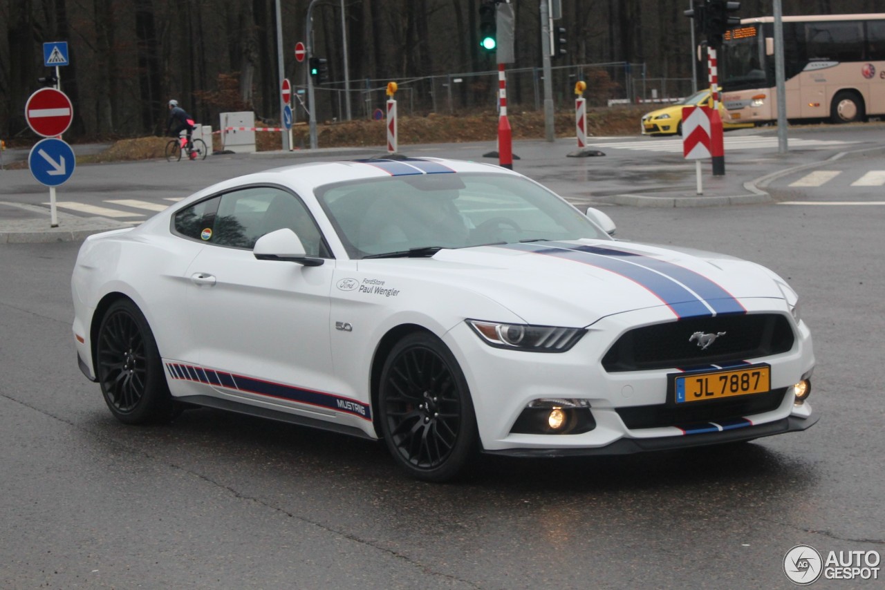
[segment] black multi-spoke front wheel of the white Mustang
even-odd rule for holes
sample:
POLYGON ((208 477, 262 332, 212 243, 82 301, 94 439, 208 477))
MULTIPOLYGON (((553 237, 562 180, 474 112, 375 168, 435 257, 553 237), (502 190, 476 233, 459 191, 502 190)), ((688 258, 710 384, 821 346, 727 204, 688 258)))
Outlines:
POLYGON ((476 455, 479 436, 464 373, 431 334, 412 333, 390 351, 378 410, 390 454, 413 478, 453 479, 476 455))

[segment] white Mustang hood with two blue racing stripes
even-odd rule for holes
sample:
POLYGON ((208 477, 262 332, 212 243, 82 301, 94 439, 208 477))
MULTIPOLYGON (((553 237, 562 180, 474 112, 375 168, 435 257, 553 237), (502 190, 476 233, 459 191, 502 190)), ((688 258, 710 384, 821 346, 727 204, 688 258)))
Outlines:
MULTIPOLYGON (((741 300, 784 299, 776 275, 758 264, 636 242, 447 249, 433 261, 434 275, 446 285, 485 295, 528 323, 589 326, 648 308, 675 318, 743 313, 741 300)), ((412 276, 420 274, 416 269, 412 276)))

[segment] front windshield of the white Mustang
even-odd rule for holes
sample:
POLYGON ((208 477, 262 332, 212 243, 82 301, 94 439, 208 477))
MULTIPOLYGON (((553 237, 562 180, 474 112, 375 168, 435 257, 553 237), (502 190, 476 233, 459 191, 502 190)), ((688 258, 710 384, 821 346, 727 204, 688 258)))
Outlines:
POLYGON ((609 239, 580 211, 518 176, 437 173, 317 191, 350 258, 432 256, 439 248, 609 239))

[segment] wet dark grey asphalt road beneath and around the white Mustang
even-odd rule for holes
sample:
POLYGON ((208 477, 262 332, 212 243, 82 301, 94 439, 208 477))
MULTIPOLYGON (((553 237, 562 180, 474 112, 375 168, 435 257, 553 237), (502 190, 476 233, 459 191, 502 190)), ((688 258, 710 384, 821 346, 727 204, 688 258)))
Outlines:
POLYGON ((128 427, 74 362, 78 244, 9 244, 0 587, 786 588, 797 544, 885 551, 881 208, 605 211, 621 238, 789 280, 820 423, 647 456, 485 458, 442 486, 404 478, 379 444, 215 410, 128 427))

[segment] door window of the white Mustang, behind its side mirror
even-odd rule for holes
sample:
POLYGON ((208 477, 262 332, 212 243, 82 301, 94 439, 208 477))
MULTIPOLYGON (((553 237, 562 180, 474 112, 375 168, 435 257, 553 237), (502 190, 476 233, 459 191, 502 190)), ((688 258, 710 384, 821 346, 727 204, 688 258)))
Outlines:
POLYGON ((221 195, 211 243, 252 249, 262 235, 289 227, 308 256, 323 256, 319 230, 295 195, 273 187, 243 188, 221 195))

